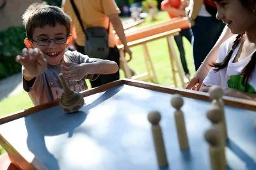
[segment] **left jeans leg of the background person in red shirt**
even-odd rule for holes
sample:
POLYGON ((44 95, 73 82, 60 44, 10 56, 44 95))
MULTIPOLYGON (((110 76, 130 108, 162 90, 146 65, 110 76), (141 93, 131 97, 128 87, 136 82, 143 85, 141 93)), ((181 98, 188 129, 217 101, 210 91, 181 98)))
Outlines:
POLYGON ((185 58, 185 50, 184 50, 183 41, 182 41, 182 31, 180 31, 179 35, 174 36, 174 40, 175 40, 177 47, 179 49, 179 52, 180 52, 180 61, 182 63, 183 70, 184 70, 185 74, 189 74, 188 66, 187 66, 186 58, 185 58))

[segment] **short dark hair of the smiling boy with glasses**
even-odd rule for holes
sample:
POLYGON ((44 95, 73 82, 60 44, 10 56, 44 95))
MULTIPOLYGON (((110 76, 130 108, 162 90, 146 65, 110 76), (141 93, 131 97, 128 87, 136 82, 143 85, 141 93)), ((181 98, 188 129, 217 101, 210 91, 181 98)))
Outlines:
POLYGON ((26 35, 29 40, 33 38, 36 27, 56 26, 60 24, 66 27, 67 35, 70 34, 71 18, 57 6, 33 3, 22 15, 23 24, 26 28, 26 35))

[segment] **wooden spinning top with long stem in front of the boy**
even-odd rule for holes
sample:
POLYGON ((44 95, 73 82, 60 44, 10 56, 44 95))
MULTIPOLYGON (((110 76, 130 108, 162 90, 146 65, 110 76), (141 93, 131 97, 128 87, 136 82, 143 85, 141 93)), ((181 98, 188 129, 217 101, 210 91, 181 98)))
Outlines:
POLYGON ((60 73, 59 76, 64 89, 63 95, 60 98, 61 109, 68 113, 78 111, 84 105, 83 96, 79 92, 72 91, 68 88, 67 82, 65 81, 62 73, 60 73))

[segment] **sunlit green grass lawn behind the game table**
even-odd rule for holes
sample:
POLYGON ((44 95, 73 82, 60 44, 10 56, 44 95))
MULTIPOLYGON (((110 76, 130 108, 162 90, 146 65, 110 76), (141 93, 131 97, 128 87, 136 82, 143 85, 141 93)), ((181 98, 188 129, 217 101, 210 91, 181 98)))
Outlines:
MULTIPOLYGON (((145 23, 141 24, 140 27, 151 26, 153 24, 158 24, 159 22, 164 22, 168 20, 168 15, 166 12, 159 12, 158 20, 154 22, 150 22, 149 19, 146 19, 145 23)), ((194 61, 192 56, 192 47, 191 44, 186 40, 184 40, 184 49, 186 52, 186 60, 188 63, 189 72, 191 75, 195 73, 194 61)), ((172 72, 170 66, 170 59, 168 56, 168 47, 166 38, 156 40, 154 42, 147 43, 148 49, 150 52, 150 56, 156 70, 157 79, 159 84, 163 84, 166 86, 173 86, 172 72)), ((179 54, 179 50, 175 46, 176 51, 179 54)), ((146 66, 143 58, 143 49, 141 46, 132 47, 132 60, 129 62, 129 66, 136 73, 143 73, 146 71, 146 66)), ((124 73, 122 70, 120 71, 121 78, 124 77, 124 73)), ((179 80, 179 79, 178 79, 179 80)), ((178 82, 178 86, 180 87, 180 82, 178 82)), ((5 116, 7 114, 11 114, 13 112, 22 111, 24 109, 28 109, 32 107, 33 104, 28 97, 28 94, 23 91, 19 95, 15 95, 13 97, 5 98, 0 101, 0 117, 5 116)), ((3 153, 3 149, 0 147, 0 155, 3 153)))

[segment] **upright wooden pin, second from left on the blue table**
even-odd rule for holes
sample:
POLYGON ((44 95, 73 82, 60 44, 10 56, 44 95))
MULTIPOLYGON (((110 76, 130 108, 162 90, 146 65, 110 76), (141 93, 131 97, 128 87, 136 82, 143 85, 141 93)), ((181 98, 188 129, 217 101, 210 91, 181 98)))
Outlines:
POLYGON ((183 99, 180 95, 173 95, 171 104, 175 108, 174 117, 177 135, 179 139, 179 146, 181 150, 188 149, 188 135, 186 131, 186 125, 184 120, 184 113, 180 110, 183 105, 183 99))

